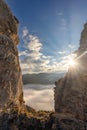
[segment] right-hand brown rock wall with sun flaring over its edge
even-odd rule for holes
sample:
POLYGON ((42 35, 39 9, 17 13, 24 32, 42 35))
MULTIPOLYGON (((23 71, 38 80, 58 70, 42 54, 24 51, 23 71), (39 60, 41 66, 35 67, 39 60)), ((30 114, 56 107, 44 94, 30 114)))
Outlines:
MULTIPOLYGON (((81 33, 77 66, 55 84, 55 117, 63 130, 87 129, 87 24, 81 33)), ((55 123, 57 124, 57 123, 55 123)))

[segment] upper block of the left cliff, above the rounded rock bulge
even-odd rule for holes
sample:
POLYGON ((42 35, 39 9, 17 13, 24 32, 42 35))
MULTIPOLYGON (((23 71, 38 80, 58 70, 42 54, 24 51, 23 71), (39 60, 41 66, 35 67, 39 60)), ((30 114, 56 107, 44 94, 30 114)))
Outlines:
POLYGON ((18 24, 19 21, 12 14, 4 0, 0 0, 0 34, 10 37, 15 44, 18 44, 18 24))

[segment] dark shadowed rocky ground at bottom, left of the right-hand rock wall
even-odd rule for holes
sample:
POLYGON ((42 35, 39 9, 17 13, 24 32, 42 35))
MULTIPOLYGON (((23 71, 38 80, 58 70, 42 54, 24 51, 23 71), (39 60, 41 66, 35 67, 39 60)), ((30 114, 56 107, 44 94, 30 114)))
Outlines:
MULTIPOLYGON (((46 116, 46 115, 45 115, 46 116)), ((53 118, 41 119, 17 113, 0 116, 0 130, 53 130, 53 118)))

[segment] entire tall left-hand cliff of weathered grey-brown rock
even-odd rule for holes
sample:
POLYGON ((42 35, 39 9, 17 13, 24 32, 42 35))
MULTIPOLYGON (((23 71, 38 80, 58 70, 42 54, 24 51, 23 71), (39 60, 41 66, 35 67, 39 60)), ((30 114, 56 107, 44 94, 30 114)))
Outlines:
POLYGON ((19 109, 23 102, 18 24, 4 0, 0 0, 0 111, 19 109))

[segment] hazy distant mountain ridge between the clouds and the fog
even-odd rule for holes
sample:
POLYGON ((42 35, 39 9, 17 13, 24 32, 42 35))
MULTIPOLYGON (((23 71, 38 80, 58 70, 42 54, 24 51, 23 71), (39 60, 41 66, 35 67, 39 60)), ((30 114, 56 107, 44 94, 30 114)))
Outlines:
POLYGON ((24 74, 24 84, 54 84, 55 81, 65 75, 65 72, 59 73, 39 73, 39 74, 24 74))

